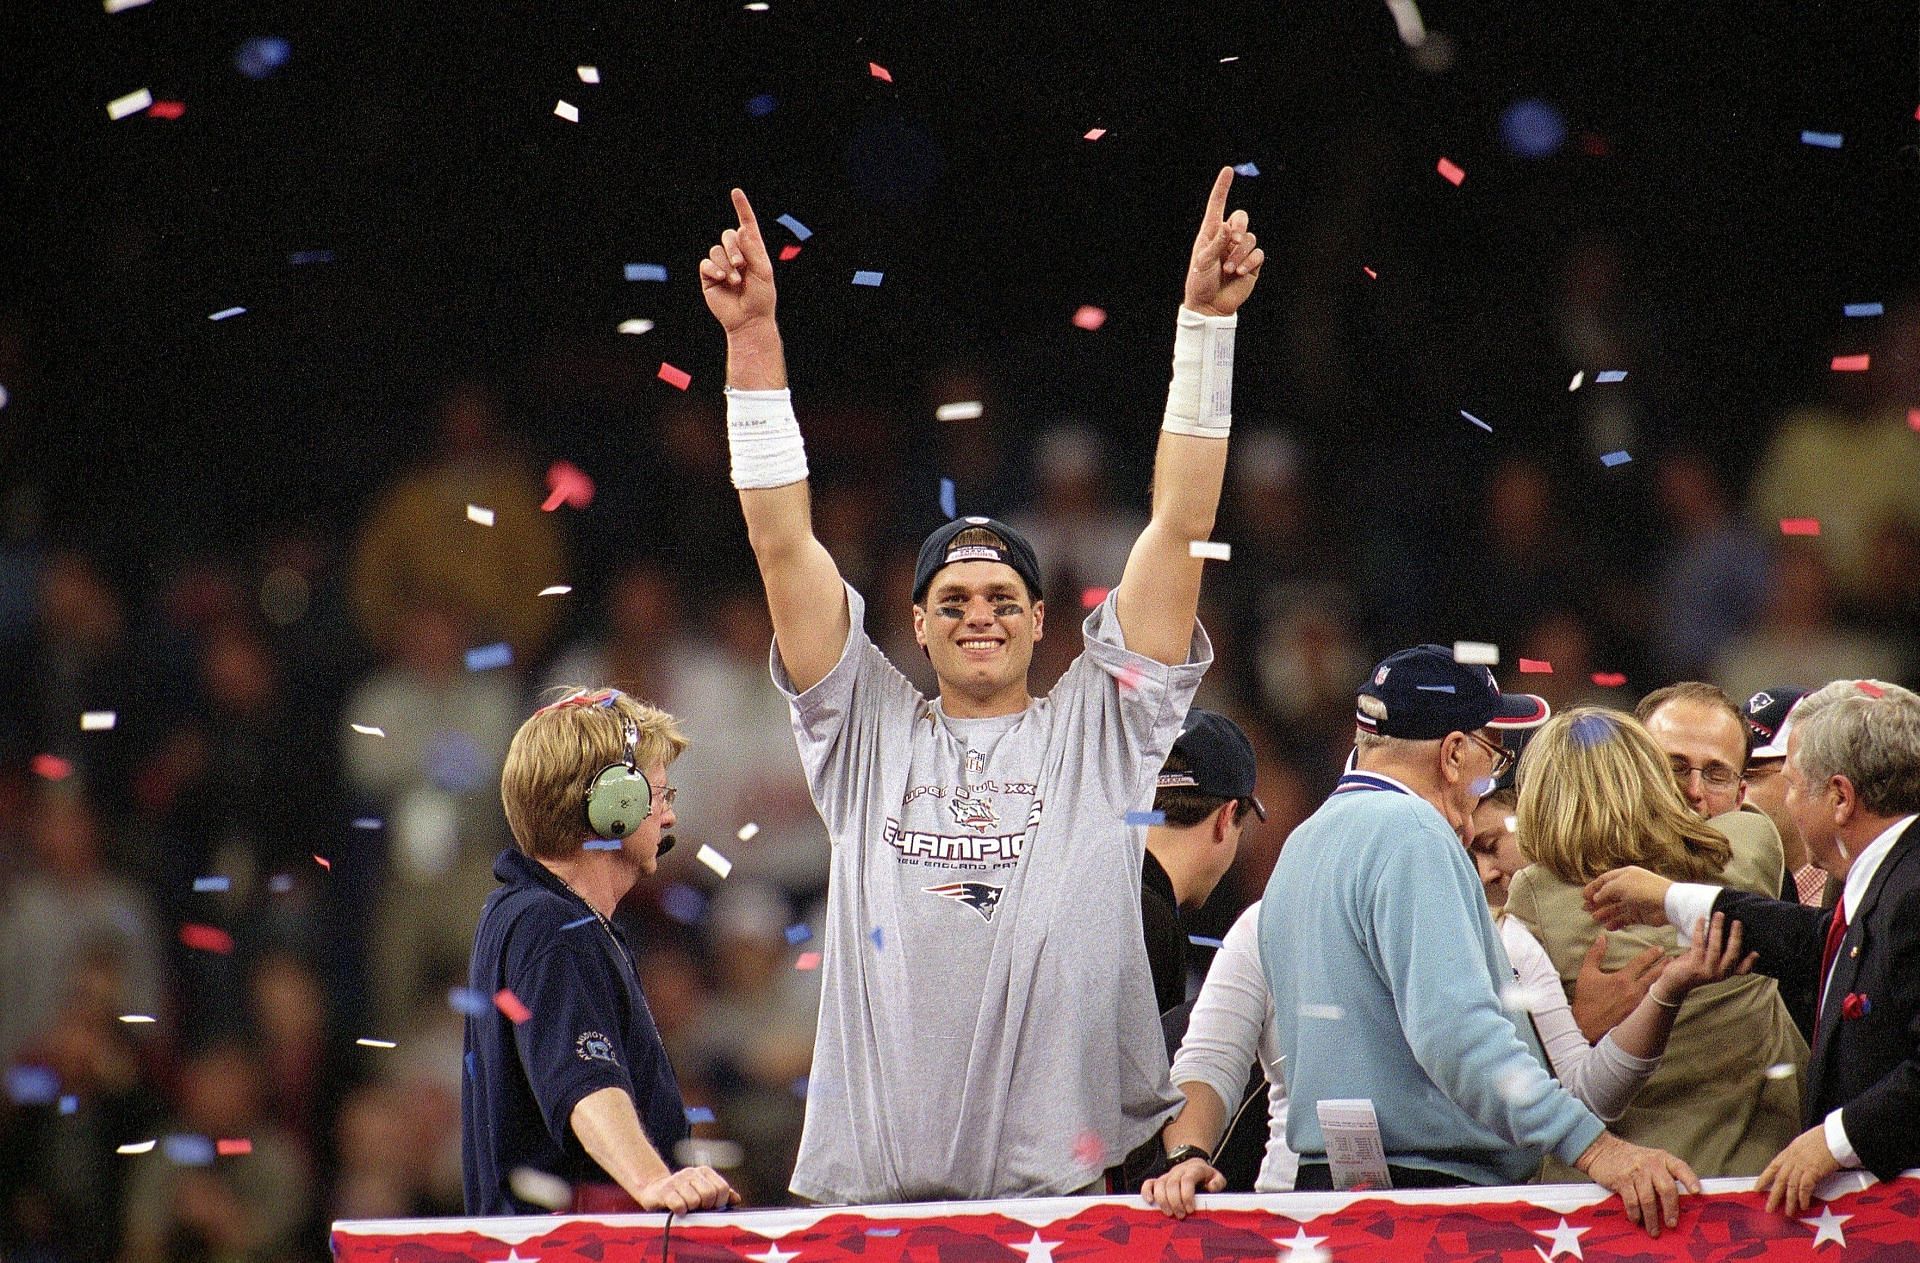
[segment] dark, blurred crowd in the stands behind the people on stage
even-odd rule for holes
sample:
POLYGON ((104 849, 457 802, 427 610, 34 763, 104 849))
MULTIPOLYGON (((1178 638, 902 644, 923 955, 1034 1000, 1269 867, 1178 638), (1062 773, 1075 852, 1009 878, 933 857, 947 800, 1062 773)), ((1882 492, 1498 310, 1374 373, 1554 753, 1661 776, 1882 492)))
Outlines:
POLYGON ((1413 46, 1331 2, 1206 31, 426 8, 73 6, 8 40, 8 1259, 319 1259, 336 1217, 459 1211, 447 990, 509 841, 507 739, 553 683, 693 737, 682 846, 624 916, 697 1132, 739 1146, 751 1203, 785 1198, 828 856, 693 276, 733 182, 797 248, 816 532, 876 639, 931 687, 908 589, 945 480, 1041 551, 1039 691, 1144 520, 1187 240, 1244 165, 1271 261, 1200 703, 1254 735, 1273 820, 1196 935, 1258 898, 1392 649, 1494 641, 1555 706, 1916 681, 1910 12, 1475 4, 1413 46), (184 111, 109 123, 140 83, 184 111), (559 461, 593 488, 549 511, 559 461))

